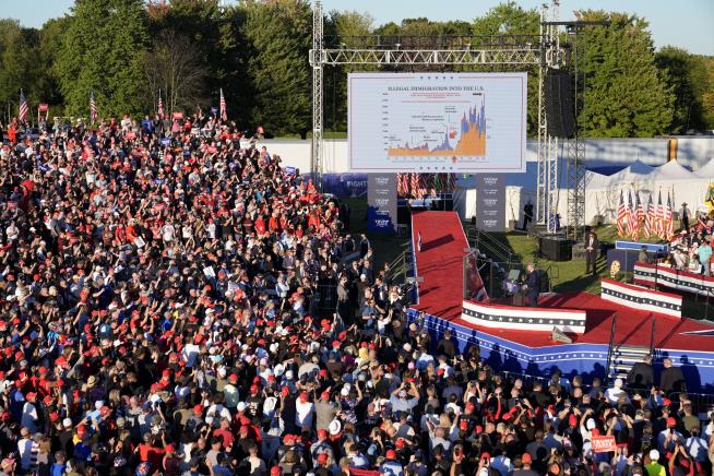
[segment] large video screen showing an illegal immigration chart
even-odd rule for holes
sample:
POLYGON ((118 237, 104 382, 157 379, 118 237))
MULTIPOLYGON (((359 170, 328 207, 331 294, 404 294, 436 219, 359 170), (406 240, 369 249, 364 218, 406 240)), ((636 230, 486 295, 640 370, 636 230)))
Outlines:
POLYGON ((523 73, 352 73, 349 168, 525 170, 523 73))

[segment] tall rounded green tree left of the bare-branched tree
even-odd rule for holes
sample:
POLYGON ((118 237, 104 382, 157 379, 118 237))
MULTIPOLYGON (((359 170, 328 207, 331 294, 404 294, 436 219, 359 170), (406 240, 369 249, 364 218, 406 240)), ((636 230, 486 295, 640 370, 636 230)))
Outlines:
POLYGON ((57 58, 67 111, 88 115, 92 92, 100 115, 140 114, 148 45, 142 0, 76 0, 57 58))

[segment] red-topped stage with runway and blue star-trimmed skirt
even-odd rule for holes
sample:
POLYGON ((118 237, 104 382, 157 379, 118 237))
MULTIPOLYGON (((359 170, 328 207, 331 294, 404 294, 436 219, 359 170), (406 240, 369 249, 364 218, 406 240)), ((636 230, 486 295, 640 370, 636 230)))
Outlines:
MULTIPOLYGON (((572 344, 551 340, 551 333, 477 325, 463 319, 463 259, 468 242, 454 212, 423 212, 412 217, 414 271, 419 283, 417 304, 409 316, 425 313, 436 335, 452 329, 462 349, 478 345, 493 368, 547 377, 557 366, 563 374, 578 372, 585 381, 605 377, 612 320, 615 346, 655 348, 655 368, 664 357, 681 365, 690 391, 714 391, 714 325, 624 306, 591 293, 554 294, 539 300, 539 309, 578 310, 586 314, 584 332, 568 333, 572 344), (421 249, 416 237, 421 236, 421 249), (654 321, 654 338, 652 334, 654 321)), ((502 304, 493 312, 526 311, 502 304)))

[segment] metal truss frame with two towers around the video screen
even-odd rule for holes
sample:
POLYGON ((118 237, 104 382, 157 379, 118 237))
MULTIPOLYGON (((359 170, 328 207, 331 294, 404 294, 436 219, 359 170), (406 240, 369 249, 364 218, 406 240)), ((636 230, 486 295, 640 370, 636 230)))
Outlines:
POLYGON ((313 4, 312 49, 312 157, 311 168, 318 187, 323 175, 323 70, 341 64, 378 66, 381 68, 447 66, 498 67, 521 66, 538 69, 538 180, 537 223, 555 231, 558 190, 558 139, 548 133, 545 102, 545 74, 548 68, 560 68, 564 61, 558 26, 559 1, 542 10, 539 35, 480 36, 323 36, 323 13, 319 0, 313 4))

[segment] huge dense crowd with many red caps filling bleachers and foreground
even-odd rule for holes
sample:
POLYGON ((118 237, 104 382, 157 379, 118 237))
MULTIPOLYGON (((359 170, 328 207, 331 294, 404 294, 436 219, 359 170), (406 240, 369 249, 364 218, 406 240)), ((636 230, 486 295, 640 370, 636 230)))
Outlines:
POLYGON ((234 124, 13 127, 0 222, 0 476, 711 474, 681 379, 489 368, 234 124))

